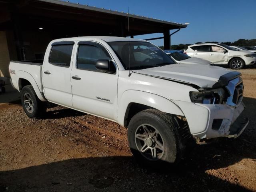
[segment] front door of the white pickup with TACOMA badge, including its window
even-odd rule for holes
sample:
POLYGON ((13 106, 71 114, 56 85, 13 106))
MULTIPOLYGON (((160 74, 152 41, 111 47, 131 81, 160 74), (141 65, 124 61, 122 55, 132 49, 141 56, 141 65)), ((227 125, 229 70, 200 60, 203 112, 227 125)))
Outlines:
POLYGON ((95 42, 78 42, 76 50, 71 71, 73 107, 116 120, 118 70, 108 74, 95 68, 97 60, 113 59, 104 46, 95 42))

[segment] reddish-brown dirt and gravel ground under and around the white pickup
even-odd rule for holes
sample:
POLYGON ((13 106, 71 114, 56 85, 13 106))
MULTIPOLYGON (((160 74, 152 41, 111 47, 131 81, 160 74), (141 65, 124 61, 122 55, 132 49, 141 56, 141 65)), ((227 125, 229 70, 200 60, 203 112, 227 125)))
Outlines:
POLYGON ((18 102, 1 104, 0 192, 256 191, 256 68, 240 72, 250 118, 244 133, 189 145, 169 171, 139 166, 126 129, 114 122, 61 106, 32 120, 18 102))

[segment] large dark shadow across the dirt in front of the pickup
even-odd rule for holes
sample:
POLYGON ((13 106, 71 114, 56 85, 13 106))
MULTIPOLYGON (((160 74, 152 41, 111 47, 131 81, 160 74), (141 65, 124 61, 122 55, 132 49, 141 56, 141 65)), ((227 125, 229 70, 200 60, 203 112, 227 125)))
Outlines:
MULTIPOLYGON (((249 191, 235 179, 229 182, 209 174, 211 170, 226 168, 244 158, 256 160, 256 120, 252 113, 256 99, 244 98, 244 102, 245 113, 251 121, 239 138, 222 138, 217 143, 202 146, 189 145, 180 165, 168 171, 166 168, 142 168, 129 156, 69 159, 1 171, 0 191, 249 191)), ((65 109, 61 113, 70 114, 65 109)), ((55 118, 62 118, 63 114, 57 113, 55 118)), ((48 112, 48 118, 52 115, 54 112, 48 112)))

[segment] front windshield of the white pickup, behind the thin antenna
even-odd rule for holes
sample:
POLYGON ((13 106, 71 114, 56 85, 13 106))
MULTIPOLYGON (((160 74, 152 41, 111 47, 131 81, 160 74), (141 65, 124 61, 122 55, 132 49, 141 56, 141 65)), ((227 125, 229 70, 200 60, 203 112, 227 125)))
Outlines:
MULTIPOLYGON (((108 42, 126 70, 129 69, 129 44, 127 41, 108 42)), ((174 64, 166 53, 150 42, 130 42, 130 69, 145 69, 174 64)))

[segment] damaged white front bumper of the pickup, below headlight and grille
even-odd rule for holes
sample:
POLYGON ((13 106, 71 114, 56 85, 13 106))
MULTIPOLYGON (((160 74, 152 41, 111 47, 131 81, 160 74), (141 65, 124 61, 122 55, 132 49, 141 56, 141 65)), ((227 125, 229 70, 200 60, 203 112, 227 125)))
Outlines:
POLYGON ((237 107, 174 101, 184 113, 190 132, 198 138, 236 138, 248 125, 244 103, 237 107))

